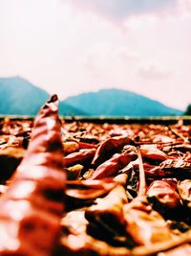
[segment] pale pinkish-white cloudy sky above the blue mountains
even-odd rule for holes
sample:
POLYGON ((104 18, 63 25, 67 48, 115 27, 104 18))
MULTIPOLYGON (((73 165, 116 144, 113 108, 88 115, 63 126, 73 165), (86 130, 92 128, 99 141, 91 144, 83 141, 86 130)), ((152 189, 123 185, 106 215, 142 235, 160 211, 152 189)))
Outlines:
POLYGON ((191 103, 191 0, 0 0, 0 77, 191 103))

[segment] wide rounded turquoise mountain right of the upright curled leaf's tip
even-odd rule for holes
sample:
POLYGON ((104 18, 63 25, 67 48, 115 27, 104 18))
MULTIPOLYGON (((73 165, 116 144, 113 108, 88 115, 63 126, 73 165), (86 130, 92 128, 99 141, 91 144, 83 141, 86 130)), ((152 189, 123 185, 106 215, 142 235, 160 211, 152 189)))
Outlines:
POLYGON ((181 115, 178 109, 162 105, 137 93, 120 89, 103 89, 82 93, 64 101, 91 116, 167 116, 181 115))

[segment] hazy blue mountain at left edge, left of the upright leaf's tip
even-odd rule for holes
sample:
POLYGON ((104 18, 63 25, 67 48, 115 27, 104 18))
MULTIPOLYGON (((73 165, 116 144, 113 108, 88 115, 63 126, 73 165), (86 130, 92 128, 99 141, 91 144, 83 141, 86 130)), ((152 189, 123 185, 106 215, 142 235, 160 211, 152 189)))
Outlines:
POLYGON ((0 78, 0 114, 35 115, 50 95, 20 78, 0 78))

